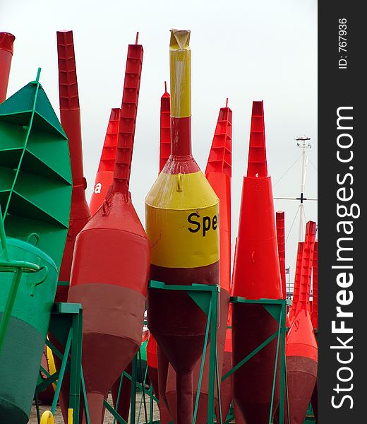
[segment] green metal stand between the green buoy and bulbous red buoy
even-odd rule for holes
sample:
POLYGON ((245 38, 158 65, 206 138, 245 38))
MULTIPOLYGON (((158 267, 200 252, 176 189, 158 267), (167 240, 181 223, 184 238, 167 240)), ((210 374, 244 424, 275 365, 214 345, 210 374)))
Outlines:
MULTIPOLYGON (((41 367, 42 372, 47 375, 47 379, 37 384, 35 396, 37 399, 37 395, 40 391, 43 391, 49 384, 55 383, 57 380, 51 408, 51 412, 54 415, 65 372, 70 370, 69 408, 73 409, 74 424, 77 424, 80 411, 80 388, 84 387, 81 365, 83 309, 80 303, 54 303, 49 323, 49 332, 59 341, 61 346, 64 347, 64 353, 61 353, 56 346, 49 340, 46 340, 46 344, 52 349, 52 353, 61 360, 61 367, 60 370, 53 375, 50 375, 47 370, 41 367)), ((89 424, 90 420, 85 390, 84 400, 87 423, 89 424)))

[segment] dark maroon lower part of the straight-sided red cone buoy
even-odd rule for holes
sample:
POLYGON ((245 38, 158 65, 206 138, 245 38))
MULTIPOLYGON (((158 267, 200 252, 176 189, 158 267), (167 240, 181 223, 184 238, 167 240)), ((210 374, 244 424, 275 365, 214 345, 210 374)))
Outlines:
MULTIPOLYGON (((235 366, 278 330, 277 321, 262 305, 232 305, 232 346, 235 366)), ((272 340, 233 375, 234 399, 247 424, 269 423, 277 339, 272 340)), ((274 416, 279 404, 279 361, 275 382, 274 416)))

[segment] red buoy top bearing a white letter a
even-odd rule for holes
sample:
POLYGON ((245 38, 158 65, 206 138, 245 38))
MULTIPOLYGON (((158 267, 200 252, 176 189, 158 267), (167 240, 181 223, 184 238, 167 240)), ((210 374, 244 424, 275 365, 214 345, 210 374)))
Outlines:
POLYGON ((111 110, 109 122, 107 125, 106 136, 98 166, 97 175, 95 176, 95 185, 92 196, 90 197, 90 213, 93 216, 97 209, 100 208, 104 199, 106 199, 109 187, 114 180, 114 163, 116 158, 117 137, 119 136, 119 108, 111 110))

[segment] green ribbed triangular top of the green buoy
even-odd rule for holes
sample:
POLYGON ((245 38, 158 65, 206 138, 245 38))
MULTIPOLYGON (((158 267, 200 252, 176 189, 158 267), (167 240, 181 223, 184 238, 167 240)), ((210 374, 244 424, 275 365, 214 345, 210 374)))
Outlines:
POLYGON ((0 105, 0 205, 6 235, 38 247, 59 268, 72 189, 68 139, 46 93, 32 81, 0 105))

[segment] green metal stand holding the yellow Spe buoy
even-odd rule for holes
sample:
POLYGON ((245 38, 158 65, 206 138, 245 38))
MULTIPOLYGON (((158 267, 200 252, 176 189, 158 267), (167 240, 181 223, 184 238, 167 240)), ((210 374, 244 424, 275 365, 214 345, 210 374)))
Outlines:
POLYGON ((209 393, 207 397, 207 423, 214 423, 215 418, 215 384, 217 384, 217 393, 219 401, 219 423, 222 424, 222 407, 220 404, 220 384, 219 384, 219 370, 217 358, 217 322, 218 322, 218 298, 219 298, 219 285, 207 284, 192 284, 192 285, 167 285, 161 281, 150 281, 149 290, 179 290, 186 292, 200 307, 205 314, 207 314, 207 326, 205 331, 205 341, 203 348, 203 355, 200 365, 200 375, 198 381, 198 391, 195 399, 195 408, 193 411, 193 424, 196 422, 198 414, 198 404, 200 396, 200 387, 203 381, 203 370, 205 362, 205 353, 207 350, 207 343, 210 336, 210 351, 209 351, 209 393))

